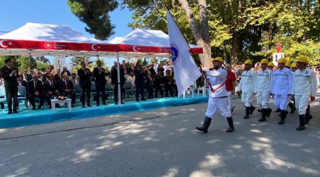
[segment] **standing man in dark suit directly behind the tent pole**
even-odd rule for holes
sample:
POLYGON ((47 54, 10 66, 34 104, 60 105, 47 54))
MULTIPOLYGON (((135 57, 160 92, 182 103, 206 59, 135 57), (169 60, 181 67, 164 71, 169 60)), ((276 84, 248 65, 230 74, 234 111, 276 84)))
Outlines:
POLYGON ((120 84, 120 89, 121 89, 121 104, 125 104, 125 102, 123 101, 123 94, 122 92, 124 92, 124 88, 123 85, 125 84, 126 78, 125 78, 125 73, 124 70, 121 69, 120 67, 120 83, 118 83, 118 67, 117 65, 115 65, 115 67, 111 70, 111 84, 114 85, 114 104, 118 104, 118 85, 120 84))

